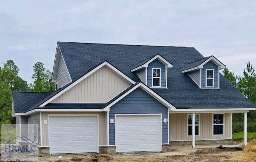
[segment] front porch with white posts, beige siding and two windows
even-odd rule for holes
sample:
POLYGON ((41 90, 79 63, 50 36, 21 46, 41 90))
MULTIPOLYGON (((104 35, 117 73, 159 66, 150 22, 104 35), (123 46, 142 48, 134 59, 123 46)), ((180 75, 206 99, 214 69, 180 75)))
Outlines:
POLYGON ((248 111, 170 111, 169 143, 171 147, 216 148, 233 145, 233 113, 244 114, 244 146, 247 144, 248 111))

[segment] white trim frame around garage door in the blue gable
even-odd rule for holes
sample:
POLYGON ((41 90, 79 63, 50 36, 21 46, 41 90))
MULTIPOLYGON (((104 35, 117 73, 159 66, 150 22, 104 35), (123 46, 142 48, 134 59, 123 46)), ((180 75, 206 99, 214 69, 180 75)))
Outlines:
MULTIPOLYGON (((115 114, 115 120, 114 120, 114 123, 115 123, 115 132, 116 132, 116 116, 160 116, 160 147, 159 147, 159 149, 160 149, 160 151, 159 152, 161 152, 162 151, 162 144, 163 144, 163 136, 162 136, 162 134, 163 134, 163 129, 162 129, 162 127, 163 127, 163 116, 162 116, 162 114, 115 114)), ((116 143, 116 136, 117 136, 117 133, 115 133, 115 145, 117 144, 116 143)))

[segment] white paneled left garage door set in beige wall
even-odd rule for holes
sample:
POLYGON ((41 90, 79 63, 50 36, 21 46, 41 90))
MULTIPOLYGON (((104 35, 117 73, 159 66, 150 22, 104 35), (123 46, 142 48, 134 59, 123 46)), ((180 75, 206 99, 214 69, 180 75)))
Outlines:
POLYGON ((50 154, 98 152, 98 116, 50 116, 50 154))

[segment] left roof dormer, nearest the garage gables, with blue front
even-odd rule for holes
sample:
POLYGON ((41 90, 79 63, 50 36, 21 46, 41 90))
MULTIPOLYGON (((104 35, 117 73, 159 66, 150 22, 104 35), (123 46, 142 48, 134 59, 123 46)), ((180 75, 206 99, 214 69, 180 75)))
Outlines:
POLYGON ((160 54, 138 62, 131 70, 150 88, 167 88, 167 68, 172 64, 160 54))

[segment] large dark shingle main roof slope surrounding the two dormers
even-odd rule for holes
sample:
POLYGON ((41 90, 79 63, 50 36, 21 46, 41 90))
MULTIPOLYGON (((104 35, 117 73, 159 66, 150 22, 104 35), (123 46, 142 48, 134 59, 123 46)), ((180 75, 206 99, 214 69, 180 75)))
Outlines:
POLYGON ((135 82, 140 79, 130 71, 140 60, 160 54, 173 68, 167 69, 168 89, 152 89, 177 107, 190 108, 254 108, 222 74, 220 89, 200 89, 193 80, 181 71, 188 63, 202 64, 204 58, 192 47, 141 46, 120 44, 93 44, 58 42, 72 80, 80 78, 85 72, 104 60, 121 70, 135 82), (201 60, 202 59, 202 60, 201 60))

